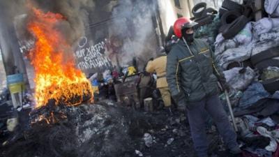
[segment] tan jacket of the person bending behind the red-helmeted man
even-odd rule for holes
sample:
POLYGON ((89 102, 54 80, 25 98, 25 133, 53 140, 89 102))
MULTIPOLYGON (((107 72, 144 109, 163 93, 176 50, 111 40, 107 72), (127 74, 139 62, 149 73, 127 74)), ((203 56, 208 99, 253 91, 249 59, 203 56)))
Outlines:
POLYGON ((153 61, 149 61, 146 66, 146 71, 148 73, 157 74, 157 88, 168 87, 167 78, 166 78, 166 68, 167 68, 167 56, 161 56, 153 61))

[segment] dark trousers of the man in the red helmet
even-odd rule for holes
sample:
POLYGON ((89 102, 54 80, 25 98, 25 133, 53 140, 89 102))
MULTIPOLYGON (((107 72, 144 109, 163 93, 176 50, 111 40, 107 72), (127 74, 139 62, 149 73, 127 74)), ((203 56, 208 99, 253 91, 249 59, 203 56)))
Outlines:
POLYGON ((229 124, 229 119, 218 96, 209 96, 198 102, 187 103, 187 115, 195 150, 199 157, 207 156, 208 142, 206 141, 206 112, 217 125, 223 141, 229 149, 238 147, 236 133, 229 124))

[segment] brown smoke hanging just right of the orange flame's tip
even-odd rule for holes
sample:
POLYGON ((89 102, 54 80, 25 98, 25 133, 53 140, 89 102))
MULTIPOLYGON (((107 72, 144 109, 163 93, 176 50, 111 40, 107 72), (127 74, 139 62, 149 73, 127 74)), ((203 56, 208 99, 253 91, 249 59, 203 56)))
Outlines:
POLYGON ((88 24, 89 11, 93 10, 92 0, 31 0, 31 6, 52 13, 59 13, 66 18, 59 25, 61 33, 70 45, 84 36, 84 29, 88 24))

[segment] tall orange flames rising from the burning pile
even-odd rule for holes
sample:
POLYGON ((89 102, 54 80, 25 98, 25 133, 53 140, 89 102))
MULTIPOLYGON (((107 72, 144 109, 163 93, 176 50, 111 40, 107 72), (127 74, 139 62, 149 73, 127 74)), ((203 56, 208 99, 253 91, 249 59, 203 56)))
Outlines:
MULTIPOLYGON (((66 105, 82 103, 83 96, 93 100, 93 90, 84 73, 75 67, 73 50, 59 31, 62 15, 43 13, 32 8, 33 18, 27 24, 36 38, 29 52, 35 70, 36 107, 47 105, 48 100, 66 105)), ((70 32, 68 32, 70 33, 70 32)))

